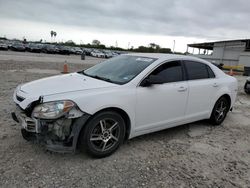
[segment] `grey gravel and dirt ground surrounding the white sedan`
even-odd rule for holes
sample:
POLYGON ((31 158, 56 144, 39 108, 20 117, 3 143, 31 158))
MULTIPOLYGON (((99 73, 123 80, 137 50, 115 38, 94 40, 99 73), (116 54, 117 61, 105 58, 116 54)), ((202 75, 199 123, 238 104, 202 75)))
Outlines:
MULTIPOLYGON (((243 92, 222 126, 198 122, 126 142, 112 156, 56 154, 26 142, 10 117, 21 82, 60 74, 62 61, 0 55, 0 187, 250 187, 250 96, 243 92), (36 60, 32 60, 36 59, 36 60)), ((45 56, 45 55, 44 55, 45 56)), ((67 57, 71 58, 71 57, 67 57)), ((72 57, 76 58, 76 57, 72 57)), ((68 60, 68 62, 73 60, 68 60)), ((71 71, 99 62, 88 58, 71 71)))

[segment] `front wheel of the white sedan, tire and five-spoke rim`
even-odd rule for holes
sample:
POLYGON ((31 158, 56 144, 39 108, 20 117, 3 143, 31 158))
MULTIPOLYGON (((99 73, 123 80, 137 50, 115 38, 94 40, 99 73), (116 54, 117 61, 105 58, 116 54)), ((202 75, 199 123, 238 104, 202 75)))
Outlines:
POLYGON ((93 157, 101 158, 114 153, 125 137, 125 122, 120 114, 105 111, 96 114, 81 134, 81 146, 93 157))

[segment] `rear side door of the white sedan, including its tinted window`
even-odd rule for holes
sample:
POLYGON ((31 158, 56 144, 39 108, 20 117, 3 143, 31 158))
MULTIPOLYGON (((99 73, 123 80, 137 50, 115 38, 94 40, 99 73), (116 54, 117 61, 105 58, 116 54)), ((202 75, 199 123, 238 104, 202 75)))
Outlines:
POLYGON ((184 65, 189 87, 186 118, 194 121, 208 118, 214 105, 214 94, 219 88, 215 74, 201 62, 184 61, 184 65))

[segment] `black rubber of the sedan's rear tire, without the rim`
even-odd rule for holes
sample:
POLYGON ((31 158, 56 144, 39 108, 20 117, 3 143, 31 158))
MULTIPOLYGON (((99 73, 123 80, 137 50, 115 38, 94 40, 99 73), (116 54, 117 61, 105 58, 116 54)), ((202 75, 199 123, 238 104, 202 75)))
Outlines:
POLYGON ((228 99, 227 99, 226 97, 221 97, 221 98, 219 98, 219 99, 216 101, 215 105, 214 105, 214 108, 213 108, 211 117, 210 117, 210 119, 209 119, 210 123, 211 123, 212 125, 220 125, 220 124, 225 120, 225 118, 226 118, 226 116, 227 116, 227 113, 229 112, 229 108, 230 108, 230 106, 229 106, 229 101, 228 101, 228 99), (216 109, 218 108, 219 104, 220 104, 222 101, 226 104, 227 109, 226 109, 226 113, 225 113, 224 117, 223 117, 221 120, 218 121, 218 120, 216 119, 216 109))

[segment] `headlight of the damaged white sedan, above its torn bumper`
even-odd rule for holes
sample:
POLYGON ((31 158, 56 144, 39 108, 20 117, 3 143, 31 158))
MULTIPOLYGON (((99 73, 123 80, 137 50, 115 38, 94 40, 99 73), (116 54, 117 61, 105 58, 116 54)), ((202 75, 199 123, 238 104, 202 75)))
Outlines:
POLYGON ((57 119, 69 112, 75 104, 72 101, 54 101, 39 104, 32 116, 40 119, 57 119))

